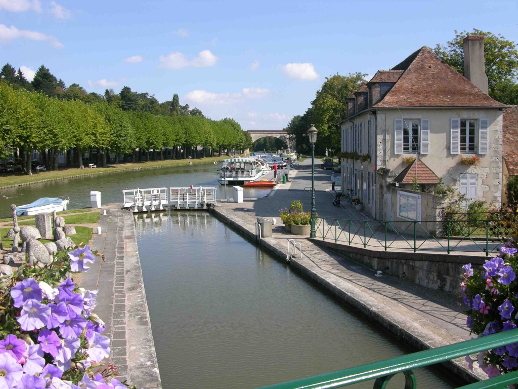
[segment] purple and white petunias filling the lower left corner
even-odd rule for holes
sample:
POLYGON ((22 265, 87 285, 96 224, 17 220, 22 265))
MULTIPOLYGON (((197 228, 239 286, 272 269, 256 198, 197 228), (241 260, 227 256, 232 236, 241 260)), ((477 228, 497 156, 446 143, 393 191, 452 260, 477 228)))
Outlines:
POLYGON ((78 288, 70 273, 89 270, 90 247, 59 253, 47 265, 25 264, 0 278, 0 387, 124 389, 104 366, 110 339, 93 313, 97 290, 78 288))

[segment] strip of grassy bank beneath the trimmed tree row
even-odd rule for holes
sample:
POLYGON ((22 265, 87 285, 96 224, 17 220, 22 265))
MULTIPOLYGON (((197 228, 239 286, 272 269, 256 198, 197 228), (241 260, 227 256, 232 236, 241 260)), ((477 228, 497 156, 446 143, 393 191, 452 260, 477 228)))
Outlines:
MULTIPOLYGON (((238 156, 236 154, 236 156, 238 156)), ((26 174, 2 174, 0 176, 0 188, 13 186, 13 185, 26 185, 33 184, 36 182, 40 182, 43 180, 53 180, 53 179, 63 179, 63 178, 71 178, 71 177, 80 177, 83 175, 91 175, 91 174, 102 174, 102 173, 117 173, 123 172, 127 170, 135 170, 135 169, 153 169, 153 168, 170 168, 172 166, 184 166, 189 165, 190 163, 200 164, 200 163, 213 163, 214 161, 219 161, 224 158, 229 158, 226 156, 221 157, 207 157, 207 158, 197 158, 197 159, 168 159, 164 161, 150 161, 150 162, 137 162, 137 163, 119 163, 114 165, 109 165, 108 168, 97 168, 90 169, 85 167, 84 169, 77 168, 63 168, 61 170, 51 170, 47 172, 41 172, 33 174, 32 176, 26 174)))

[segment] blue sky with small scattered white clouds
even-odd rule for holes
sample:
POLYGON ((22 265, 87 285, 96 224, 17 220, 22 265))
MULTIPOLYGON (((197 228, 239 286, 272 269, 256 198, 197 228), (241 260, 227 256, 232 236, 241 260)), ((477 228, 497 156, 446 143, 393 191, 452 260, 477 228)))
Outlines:
POLYGON ((66 85, 174 93, 211 119, 280 130, 334 74, 388 70, 477 28, 518 42, 518 2, 0 0, 0 66, 66 85))

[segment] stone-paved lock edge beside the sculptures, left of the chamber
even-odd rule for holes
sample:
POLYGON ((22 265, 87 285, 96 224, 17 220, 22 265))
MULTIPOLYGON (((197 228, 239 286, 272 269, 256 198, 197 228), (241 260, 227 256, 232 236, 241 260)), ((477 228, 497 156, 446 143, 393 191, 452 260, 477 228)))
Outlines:
POLYGON ((103 232, 92 241, 105 261, 95 261, 83 273, 80 286, 99 289, 94 312, 106 323, 108 362, 117 366, 120 380, 139 388, 161 388, 133 217, 117 205, 107 211, 99 220, 103 232))

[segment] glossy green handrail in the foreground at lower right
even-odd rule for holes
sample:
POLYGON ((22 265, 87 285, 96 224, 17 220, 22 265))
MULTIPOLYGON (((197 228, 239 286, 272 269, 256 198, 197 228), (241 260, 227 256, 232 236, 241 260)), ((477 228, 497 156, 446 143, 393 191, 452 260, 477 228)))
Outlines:
MULTIPOLYGON (((353 385, 358 382, 375 380, 374 389, 384 389, 397 373, 405 374, 405 389, 415 389, 417 381, 412 369, 447 362, 481 351, 492 350, 518 342, 518 329, 500 332, 477 339, 450 344, 437 349, 420 351, 397 358, 383 360, 368 365, 352 367, 320 376, 303 378, 265 386, 262 389, 330 389, 353 385)), ((518 371, 462 386, 464 389, 500 389, 518 383, 518 371)))

